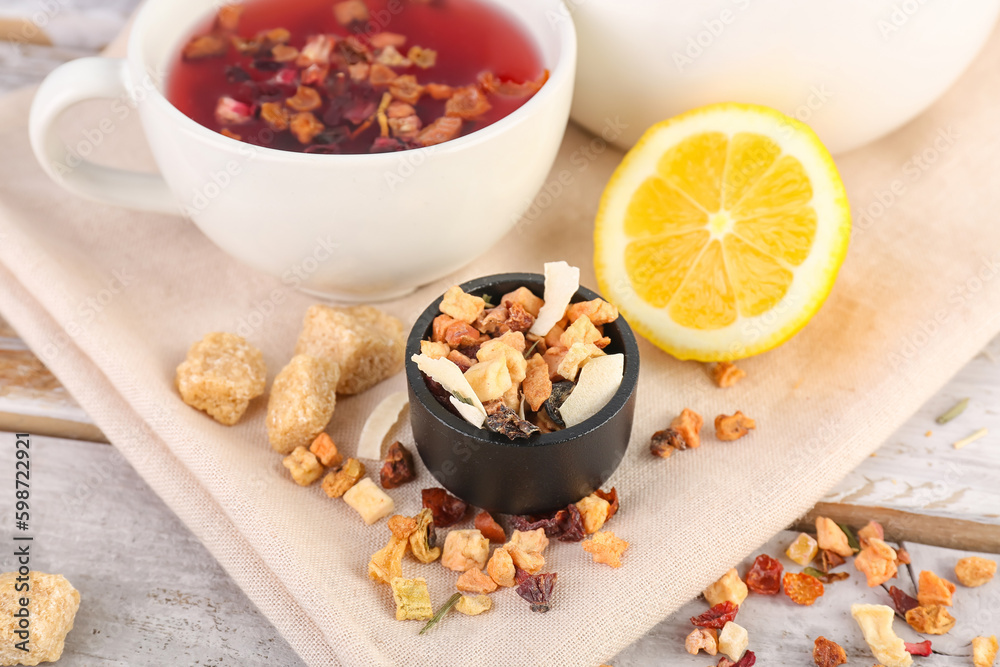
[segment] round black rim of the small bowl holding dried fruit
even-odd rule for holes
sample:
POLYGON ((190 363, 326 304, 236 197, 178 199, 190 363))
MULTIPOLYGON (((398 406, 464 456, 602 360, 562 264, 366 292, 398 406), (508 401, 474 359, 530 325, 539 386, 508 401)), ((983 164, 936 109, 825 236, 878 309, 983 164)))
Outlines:
MULTIPOLYGON (((544 280, 544 276, 538 273, 495 273, 466 281, 461 283, 459 287, 468 293, 476 293, 489 287, 490 285, 510 281, 521 284, 534 292, 535 288, 540 288, 544 285, 544 280)), ((417 368, 417 365, 410 360, 412 355, 420 353, 420 341, 423 339, 424 333, 427 331, 427 327, 430 326, 434 317, 440 314, 439 306, 443 297, 444 295, 442 294, 434 299, 427 306, 427 308, 424 309, 420 316, 417 317, 413 327, 410 329, 410 333, 406 339, 404 359, 404 363, 406 364, 406 382, 413 396, 431 416, 433 416, 438 422, 444 424, 453 431, 461 433, 465 437, 473 438, 479 442, 494 446, 522 449, 561 445, 591 433, 610 422, 625 409, 632 395, 636 391, 636 387, 639 383, 639 345, 636 342, 632 327, 629 326, 624 316, 619 314, 618 319, 614 322, 614 325, 616 326, 618 335, 621 338, 623 348, 622 354, 625 356, 625 371, 622 375, 622 382, 614 396, 612 396, 611 400, 598 410, 596 414, 591 415, 589 418, 575 426, 570 426, 559 431, 553 431, 552 433, 541 433, 537 436, 532 436, 527 440, 511 440, 510 438, 504 437, 494 431, 490 431, 485 427, 476 428, 464 419, 455 416, 443 405, 441 405, 440 402, 438 402, 437 398, 431 393, 430 389, 427 388, 423 373, 421 373, 420 369, 417 368)), ((598 298, 603 297, 597 292, 580 285, 577 288, 576 293, 573 295, 571 302, 589 301, 598 298)), ((412 418, 412 406, 410 411, 412 418)))

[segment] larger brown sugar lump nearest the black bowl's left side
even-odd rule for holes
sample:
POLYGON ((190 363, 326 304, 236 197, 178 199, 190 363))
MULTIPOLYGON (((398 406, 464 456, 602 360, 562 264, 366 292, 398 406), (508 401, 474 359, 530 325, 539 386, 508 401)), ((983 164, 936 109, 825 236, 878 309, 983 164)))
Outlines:
POLYGON ((323 357, 340 366, 338 394, 357 394, 403 368, 403 323, 371 306, 312 306, 295 354, 323 357))

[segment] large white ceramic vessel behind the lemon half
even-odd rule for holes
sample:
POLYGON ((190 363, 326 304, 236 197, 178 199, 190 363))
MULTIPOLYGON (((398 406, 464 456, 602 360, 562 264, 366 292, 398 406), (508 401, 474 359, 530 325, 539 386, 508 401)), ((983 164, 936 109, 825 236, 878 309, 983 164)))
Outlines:
POLYGON ((591 131, 614 124, 627 148, 693 107, 749 102, 806 122, 834 153, 927 108, 1000 9, 1000 0, 568 1, 580 40, 572 115, 591 131))

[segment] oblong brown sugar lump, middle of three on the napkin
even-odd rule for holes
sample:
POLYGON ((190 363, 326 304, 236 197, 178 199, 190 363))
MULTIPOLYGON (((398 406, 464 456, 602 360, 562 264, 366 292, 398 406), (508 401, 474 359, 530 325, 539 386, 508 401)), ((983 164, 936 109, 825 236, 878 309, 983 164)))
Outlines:
POLYGON ((267 402, 267 438, 279 454, 307 447, 333 416, 340 367, 298 354, 281 369, 267 402))

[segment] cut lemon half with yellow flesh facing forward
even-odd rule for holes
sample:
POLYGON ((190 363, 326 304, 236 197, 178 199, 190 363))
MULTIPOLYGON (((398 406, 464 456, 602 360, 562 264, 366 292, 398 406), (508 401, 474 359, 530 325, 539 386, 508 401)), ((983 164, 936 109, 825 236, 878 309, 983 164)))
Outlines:
POLYGON ((654 125, 615 170, 594 229, 603 294, 680 359, 723 361, 791 338, 847 253, 830 153, 768 107, 715 104, 654 125))

